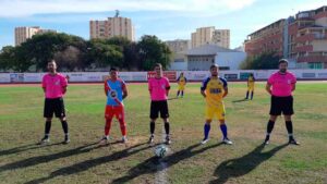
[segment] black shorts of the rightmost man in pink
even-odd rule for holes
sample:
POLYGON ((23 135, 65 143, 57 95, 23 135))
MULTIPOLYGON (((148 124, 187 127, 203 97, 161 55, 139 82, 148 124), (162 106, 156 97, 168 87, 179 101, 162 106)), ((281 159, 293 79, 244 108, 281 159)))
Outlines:
POLYGON ((293 97, 276 97, 271 96, 270 115, 292 115, 293 110, 293 97))

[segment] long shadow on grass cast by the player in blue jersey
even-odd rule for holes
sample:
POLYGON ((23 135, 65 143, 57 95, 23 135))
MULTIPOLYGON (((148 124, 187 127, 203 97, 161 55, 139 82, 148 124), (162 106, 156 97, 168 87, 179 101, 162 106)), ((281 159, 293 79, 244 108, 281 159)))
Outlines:
MULTIPOLYGON (((89 144, 89 145, 85 145, 85 146, 81 146, 74 149, 70 149, 70 150, 65 150, 65 151, 61 151, 61 152, 57 152, 57 154, 51 154, 51 155, 47 155, 47 156, 37 156, 37 157, 32 157, 32 158, 27 158, 24 160, 20 160, 16 162, 12 162, 12 163, 8 163, 0 167, 0 173, 7 170, 14 170, 14 169, 22 169, 22 168, 27 168, 27 167, 34 167, 40 163, 46 163, 49 161, 53 161, 57 159, 61 159, 61 158, 65 158, 65 157, 71 157, 74 155, 78 155, 78 154, 84 154, 84 152, 88 152, 93 149, 97 149, 101 146, 96 146, 96 147, 90 147, 94 145, 97 145, 98 142, 89 144)), ((45 147, 45 146, 39 146, 45 147)))

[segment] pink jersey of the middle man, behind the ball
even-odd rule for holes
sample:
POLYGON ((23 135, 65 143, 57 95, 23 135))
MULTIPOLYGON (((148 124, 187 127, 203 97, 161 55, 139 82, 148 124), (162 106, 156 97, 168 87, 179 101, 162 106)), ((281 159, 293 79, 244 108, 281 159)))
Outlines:
POLYGON ((148 90, 153 101, 167 100, 167 91, 169 89, 170 85, 167 77, 148 79, 148 90))

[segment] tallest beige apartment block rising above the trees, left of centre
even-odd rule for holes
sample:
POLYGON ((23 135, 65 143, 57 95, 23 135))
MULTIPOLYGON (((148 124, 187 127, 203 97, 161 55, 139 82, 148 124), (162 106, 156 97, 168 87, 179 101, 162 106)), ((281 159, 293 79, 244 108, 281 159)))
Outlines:
POLYGON ((114 16, 106 21, 89 21, 90 39, 107 39, 114 36, 126 37, 129 40, 135 40, 135 30, 131 19, 114 16))

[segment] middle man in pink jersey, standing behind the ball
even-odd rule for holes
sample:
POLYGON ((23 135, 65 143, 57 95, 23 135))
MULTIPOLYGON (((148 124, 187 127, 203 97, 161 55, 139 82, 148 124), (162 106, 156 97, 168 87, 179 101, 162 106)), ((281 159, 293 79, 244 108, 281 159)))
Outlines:
POLYGON ((170 140, 170 125, 169 125, 169 110, 168 110, 168 94, 170 89, 170 84, 167 77, 162 76, 162 66, 160 63, 155 65, 156 75, 154 78, 148 79, 148 90, 150 94, 150 137, 148 143, 154 143, 154 134, 155 134, 155 122, 159 116, 165 122, 165 131, 166 131, 166 144, 169 145, 170 140))

